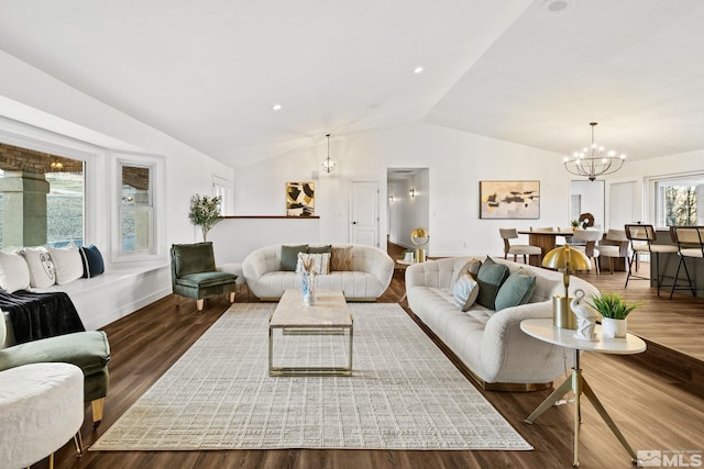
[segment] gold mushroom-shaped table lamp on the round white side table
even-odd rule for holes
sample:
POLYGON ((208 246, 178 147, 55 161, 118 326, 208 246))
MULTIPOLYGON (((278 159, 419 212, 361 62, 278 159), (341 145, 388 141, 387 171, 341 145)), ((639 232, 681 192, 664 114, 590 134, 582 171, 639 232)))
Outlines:
POLYGON ((570 273, 573 270, 591 270, 592 263, 584 253, 565 244, 546 254, 542 258, 542 267, 562 270, 564 297, 561 294, 552 297, 552 324, 556 327, 576 330, 576 316, 570 309, 570 273))

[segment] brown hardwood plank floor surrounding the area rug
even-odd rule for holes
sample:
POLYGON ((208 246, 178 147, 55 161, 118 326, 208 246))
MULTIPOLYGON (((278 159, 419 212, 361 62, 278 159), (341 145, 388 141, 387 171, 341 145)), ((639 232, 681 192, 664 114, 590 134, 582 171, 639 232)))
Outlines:
MULTIPOLYGON (((394 248, 395 249, 395 248, 394 248)), ((389 254, 395 256, 395 252, 389 254)), ((396 256, 400 257, 400 255, 396 256)), ((641 266, 647 268, 647 266, 641 266)), ((582 368, 594 392, 636 450, 704 450, 704 399, 693 388, 696 372, 676 369, 686 354, 704 351, 704 300, 668 294, 658 298, 648 282, 624 289, 625 273, 583 275, 602 290, 646 304, 629 316, 629 330, 649 340, 642 358, 584 354, 582 368), (661 340, 659 345, 653 340, 661 340), (662 348, 662 351, 659 350, 662 348), (651 353, 657 349, 656 353, 651 353), (694 377, 694 378, 693 378, 694 377)), ((398 302, 403 271, 394 275, 381 302, 398 302)), ((238 302, 255 301, 240 295, 238 302)), ((407 306, 406 302, 402 303, 407 306)), ((206 302, 197 314, 193 300, 169 295, 105 327, 110 339, 110 392, 105 420, 94 429, 89 407, 81 429, 90 446, 227 310, 224 299, 206 302)), ((237 357, 233 357, 237 359, 237 357)), ((700 361, 701 362, 701 361, 700 361)), ((686 368, 686 366, 684 367, 686 368)), ((228 450, 228 451, 86 451, 74 457, 72 445, 57 453, 57 468, 566 468, 572 465, 571 405, 548 410, 534 425, 526 416, 549 394, 484 392, 486 399, 535 447, 532 451, 399 450, 228 450)), ((632 467, 627 453, 594 407, 582 406, 580 460, 584 468, 632 467)), ((46 468, 41 461, 34 468, 46 468)))

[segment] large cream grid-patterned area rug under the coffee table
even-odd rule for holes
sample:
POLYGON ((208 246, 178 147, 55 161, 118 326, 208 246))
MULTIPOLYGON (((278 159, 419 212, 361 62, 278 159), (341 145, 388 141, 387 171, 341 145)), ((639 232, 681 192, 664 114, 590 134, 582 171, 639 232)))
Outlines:
MULTIPOLYGON (((352 377, 270 377, 275 306, 233 304, 90 449, 532 449, 397 304, 349 305, 352 377)), ((341 339, 275 354, 324 361, 341 339)))

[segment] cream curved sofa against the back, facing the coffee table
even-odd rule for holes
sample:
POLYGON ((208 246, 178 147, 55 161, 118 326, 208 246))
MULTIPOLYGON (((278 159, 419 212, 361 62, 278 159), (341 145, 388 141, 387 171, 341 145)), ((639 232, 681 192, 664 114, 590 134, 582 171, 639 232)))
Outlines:
MULTIPOLYGON (((319 245, 311 245, 315 246, 319 245)), ((352 270, 333 270, 328 275, 317 276, 317 288, 342 290, 348 301, 374 301, 386 291, 392 281, 394 260, 376 247, 360 244, 351 246, 352 270)), ((280 244, 261 247, 244 258, 242 273, 246 286, 260 300, 275 301, 287 289, 301 289, 301 276, 279 270, 280 263, 280 244)))

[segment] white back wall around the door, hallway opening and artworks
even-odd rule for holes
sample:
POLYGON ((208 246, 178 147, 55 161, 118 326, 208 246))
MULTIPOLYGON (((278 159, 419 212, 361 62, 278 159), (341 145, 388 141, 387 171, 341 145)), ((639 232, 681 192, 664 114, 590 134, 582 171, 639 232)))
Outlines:
MULTIPOLYGON (((324 158, 326 148, 320 144, 238 168, 234 213, 283 214, 286 181, 310 178, 324 158)), ((429 169, 427 227, 433 256, 502 254, 499 227, 569 224, 571 178, 562 168, 561 155, 554 153, 416 123, 332 138, 330 154, 338 167, 330 175, 320 175, 316 186, 322 242, 349 242, 352 179, 378 180, 380 200, 387 203, 387 168, 429 169), (480 220, 479 181, 488 179, 540 180, 540 220, 480 220)), ((408 197, 407 188, 399 197, 408 197)), ((380 213, 384 217, 380 226, 384 228, 388 226, 387 211, 380 213)), ((386 233, 380 234, 381 246, 385 245, 385 236, 386 233)))

